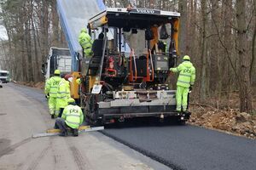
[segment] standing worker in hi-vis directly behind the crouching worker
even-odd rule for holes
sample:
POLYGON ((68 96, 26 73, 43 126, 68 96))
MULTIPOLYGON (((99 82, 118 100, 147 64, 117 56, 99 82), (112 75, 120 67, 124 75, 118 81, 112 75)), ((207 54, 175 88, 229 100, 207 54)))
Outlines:
POLYGON ((67 99, 71 98, 69 82, 72 82, 72 80, 73 77, 71 75, 62 75, 61 82, 59 83, 57 91, 57 111, 59 113, 58 117, 61 117, 64 108, 67 106, 67 99))

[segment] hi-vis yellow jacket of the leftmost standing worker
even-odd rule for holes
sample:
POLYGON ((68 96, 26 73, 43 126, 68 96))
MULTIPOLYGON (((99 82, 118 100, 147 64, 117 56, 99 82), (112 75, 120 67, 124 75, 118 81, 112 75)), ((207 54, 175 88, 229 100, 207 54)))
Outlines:
POLYGON ((61 82, 61 77, 57 77, 57 76, 50 77, 45 82, 44 94, 49 94, 49 97, 56 98, 57 90, 60 82, 61 82))

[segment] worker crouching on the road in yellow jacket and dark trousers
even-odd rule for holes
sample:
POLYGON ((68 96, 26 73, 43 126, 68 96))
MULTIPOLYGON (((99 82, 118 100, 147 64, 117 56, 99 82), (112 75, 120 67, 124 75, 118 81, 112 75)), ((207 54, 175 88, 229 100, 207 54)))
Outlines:
POLYGON ((79 136, 79 126, 84 121, 83 112, 73 98, 68 99, 67 103, 62 116, 55 121, 55 128, 61 129, 60 136, 67 136, 68 127, 71 128, 73 136, 79 136))

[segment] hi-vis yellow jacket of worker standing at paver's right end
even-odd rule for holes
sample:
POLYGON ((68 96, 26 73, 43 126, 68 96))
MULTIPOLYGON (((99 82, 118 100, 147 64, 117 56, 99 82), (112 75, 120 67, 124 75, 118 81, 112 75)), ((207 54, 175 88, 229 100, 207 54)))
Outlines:
POLYGON ((182 64, 178 65, 176 68, 172 68, 171 71, 179 72, 177 86, 189 88, 190 85, 194 85, 195 67, 190 61, 183 61, 182 64))

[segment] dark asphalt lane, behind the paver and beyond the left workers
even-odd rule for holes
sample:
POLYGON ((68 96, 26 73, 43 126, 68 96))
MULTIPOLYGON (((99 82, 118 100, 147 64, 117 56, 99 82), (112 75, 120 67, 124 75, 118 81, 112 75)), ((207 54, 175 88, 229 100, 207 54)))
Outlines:
MULTIPOLYGON (((46 107, 44 94, 41 91, 17 87, 13 84, 9 86, 20 88, 26 98, 44 102, 46 107)), ((255 140, 203 127, 136 123, 122 128, 111 127, 103 133, 172 169, 256 169, 255 140)), ((168 169, 167 167, 163 168, 168 169)), ((153 168, 160 169, 160 167, 153 168)))

